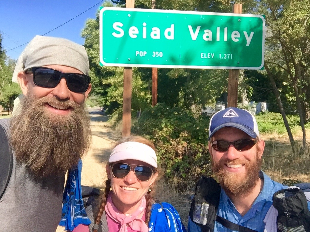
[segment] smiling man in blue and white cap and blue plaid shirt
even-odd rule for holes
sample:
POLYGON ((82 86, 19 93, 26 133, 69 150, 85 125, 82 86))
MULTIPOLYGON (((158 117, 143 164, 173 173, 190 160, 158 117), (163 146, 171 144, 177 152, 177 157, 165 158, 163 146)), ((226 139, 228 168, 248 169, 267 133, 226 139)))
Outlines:
MULTIPOLYGON (((275 206, 277 210, 273 210, 273 195, 286 187, 260 170, 264 147, 255 117, 247 110, 229 107, 212 116, 209 152, 218 182, 210 177, 198 181, 189 213, 189 232, 276 232, 277 226, 279 229, 281 210, 277 221, 279 209, 275 206), (270 222, 271 219, 275 220, 270 222)), ((301 198, 306 199, 303 193, 301 198)), ((279 199, 283 201, 285 197, 279 199)), ((301 203, 305 208, 303 215, 308 215, 305 202, 301 203)))

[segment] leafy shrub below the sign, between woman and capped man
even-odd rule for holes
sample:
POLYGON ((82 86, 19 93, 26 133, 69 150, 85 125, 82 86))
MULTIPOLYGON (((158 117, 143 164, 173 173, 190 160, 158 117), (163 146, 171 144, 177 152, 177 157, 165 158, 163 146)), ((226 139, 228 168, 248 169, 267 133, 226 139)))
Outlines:
POLYGON ((166 177, 186 189, 202 174, 210 175, 209 121, 208 116, 157 104, 143 111, 132 132, 154 142, 166 177))

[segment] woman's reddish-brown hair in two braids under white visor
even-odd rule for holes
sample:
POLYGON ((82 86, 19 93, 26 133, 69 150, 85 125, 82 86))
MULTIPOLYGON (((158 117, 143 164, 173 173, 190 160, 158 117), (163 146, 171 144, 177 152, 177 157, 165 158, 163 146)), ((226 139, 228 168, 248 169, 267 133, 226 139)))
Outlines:
MULTIPOLYGON (((125 138, 122 138, 121 140, 119 140, 114 147, 116 147, 118 144, 122 144, 125 142, 138 142, 138 143, 143 143, 148 145, 150 148, 152 148, 155 152, 155 146, 153 144, 152 141, 147 140, 141 136, 128 136, 125 138)), ((158 169, 154 169, 155 173, 158 173, 158 169)), ((157 178, 159 179, 159 178, 157 178)), ((150 220, 150 216, 151 216, 151 208, 152 208, 152 204, 155 202, 153 195, 155 193, 154 191, 154 186, 155 186, 155 182, 153 182, 153 184, 151 185, 151 190, 152 191, 148 191, 147 194, 145 195, 145 200, 146 200, 146 206, 145 206, 145 224, 148 225, 148 222, 150 220)), ((111 188, 111 182, 109 179, 106 180, 105 182, 105 190, 104 190, 104 195, 101 196, 100 199, 100 204, 99 204, 99 208, 98 208, 98 213, 97 213, 97 217, 95 219, 95 223, 99 225, 102 214, 104 213, 104 207, 106 205, 106 201, 108 198, 108 194, 110 192, 110 188, 111 188)), ((93 230, 93 232, 98 232, 98 230, 93 230)))

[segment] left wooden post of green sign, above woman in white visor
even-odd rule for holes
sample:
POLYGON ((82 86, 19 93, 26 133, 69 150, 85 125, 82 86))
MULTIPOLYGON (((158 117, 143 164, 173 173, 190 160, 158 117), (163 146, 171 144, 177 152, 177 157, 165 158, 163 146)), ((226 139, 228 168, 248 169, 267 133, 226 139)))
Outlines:
MULTIPOLYGON (((135 0, 126 0, 126 8, 135 8, 135 0)), ((123 130, 122 137, 130 135, 132 67, 124 67, 123 130)))

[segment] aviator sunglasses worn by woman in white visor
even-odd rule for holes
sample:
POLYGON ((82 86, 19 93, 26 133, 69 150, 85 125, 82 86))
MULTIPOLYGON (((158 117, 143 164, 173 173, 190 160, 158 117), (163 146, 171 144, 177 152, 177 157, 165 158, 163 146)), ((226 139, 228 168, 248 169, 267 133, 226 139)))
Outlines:
POLYGON ((118 179, 122 179, 125 176, 127 176, 130 172, 130 170, 133 168, 135 172, 135 176, 140 180, 140 181, 148 181, 152 174, 153 170, 148 167, 148 166, 143 166, 143 165, 137 165, 135 167, 131 167, 130 165, 134 164, 124 164, 124 163, 116 163, 113 164, 112 166, 112 174, 118 179))

